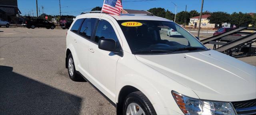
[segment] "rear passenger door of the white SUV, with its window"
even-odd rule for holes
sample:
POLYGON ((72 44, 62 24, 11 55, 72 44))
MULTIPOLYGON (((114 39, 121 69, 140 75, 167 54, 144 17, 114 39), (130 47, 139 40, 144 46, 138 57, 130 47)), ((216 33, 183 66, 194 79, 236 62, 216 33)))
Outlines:
POLYGON ((76 52, 80 64, 78 65, 80 71, 84 76, 87 76, 88 73, 88 54, 89 52, 89 43, 91 41, 91 36, 93 34, 94 28, 96 26, 97 18, 85 18, 82 22, 80 30, 78 32, 79 37, 76 38, 76 52))

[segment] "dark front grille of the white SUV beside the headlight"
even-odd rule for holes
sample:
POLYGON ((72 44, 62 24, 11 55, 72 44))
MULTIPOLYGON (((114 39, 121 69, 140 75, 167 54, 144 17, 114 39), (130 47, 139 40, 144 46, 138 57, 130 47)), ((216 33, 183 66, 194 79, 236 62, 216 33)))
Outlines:
POLYGON ((238 115, 256 115, 256 99, 232 102, 238 115))

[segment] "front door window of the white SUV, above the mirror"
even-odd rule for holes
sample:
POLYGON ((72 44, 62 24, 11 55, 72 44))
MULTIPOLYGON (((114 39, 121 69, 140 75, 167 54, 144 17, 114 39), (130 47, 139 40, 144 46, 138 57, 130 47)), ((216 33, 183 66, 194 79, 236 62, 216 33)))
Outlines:
POLYGON ((99 43, 100 39, 103 39, 103 38, 111 38, 118 43, 116 32, 114 31, 111 24, 106 20, 99 21, 94 42, 99 43))

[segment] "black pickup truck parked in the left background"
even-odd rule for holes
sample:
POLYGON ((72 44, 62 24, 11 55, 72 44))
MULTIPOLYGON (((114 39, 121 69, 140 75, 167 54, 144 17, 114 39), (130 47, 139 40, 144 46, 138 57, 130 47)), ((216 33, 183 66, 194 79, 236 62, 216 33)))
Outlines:
POLYGON ((54 29, 56 26, 55 24, 48 22, 47 20, 44 20, 44 19, 30 19, 30 20, 26 20, 26 27, 32 28, 32 29, 36 27, 54 29))

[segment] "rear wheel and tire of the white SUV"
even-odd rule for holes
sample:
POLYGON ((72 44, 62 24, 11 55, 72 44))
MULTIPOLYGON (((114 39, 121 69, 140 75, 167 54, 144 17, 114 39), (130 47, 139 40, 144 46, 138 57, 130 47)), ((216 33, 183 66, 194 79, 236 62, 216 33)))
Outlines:
POLYGON ((71 53, 68 55, 67 63, 68 63, 68 75, 69 75, 70 79, 72 81, 81 81, 82 77, 80 75, 78 75, 76 72, 76 67, 74 65, 74 59, 73 59, 73 56, 71 53))

